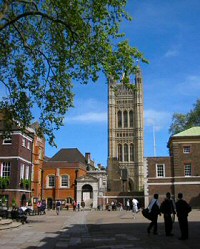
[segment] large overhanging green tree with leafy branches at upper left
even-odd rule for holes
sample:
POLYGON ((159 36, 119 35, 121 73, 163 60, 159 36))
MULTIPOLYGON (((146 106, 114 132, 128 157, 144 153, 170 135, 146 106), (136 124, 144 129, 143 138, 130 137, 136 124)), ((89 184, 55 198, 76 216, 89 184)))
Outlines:
MULTIPOLYGON (((100 72, 116 80, 145 61, 120 33, 131 20, 127 0, 0 1, 0 108, 6 125, 29 126, 38 108, 38 134, 54 145, 54 131, 73 107, 73 84, 97 81, 100 72)), ((126 78, 126 77, 125 77, 126 78)), ((128 84, 127 84, 128 85, 128 84)))

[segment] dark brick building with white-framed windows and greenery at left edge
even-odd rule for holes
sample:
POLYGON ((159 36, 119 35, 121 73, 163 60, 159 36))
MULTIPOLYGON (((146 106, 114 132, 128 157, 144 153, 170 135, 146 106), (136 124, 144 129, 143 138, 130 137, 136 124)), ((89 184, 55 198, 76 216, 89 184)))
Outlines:
POLYGON ((3 137, 4 121, 0 116, 0 205, 22 205, 31 198, 32 150, 34 130, 22 132, 15 126, 3 137))

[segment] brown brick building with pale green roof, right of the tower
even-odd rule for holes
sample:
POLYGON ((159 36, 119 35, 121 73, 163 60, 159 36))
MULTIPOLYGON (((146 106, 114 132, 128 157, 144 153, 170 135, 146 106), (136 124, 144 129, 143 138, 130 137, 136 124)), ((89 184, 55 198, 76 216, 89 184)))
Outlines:
POLYGON ((169 157, 148 157, 146 165, 146 204, 154 193, 160 199, 170 192, 182 192, 192 207, 200 207, 200 127, 170 137, 169 157))

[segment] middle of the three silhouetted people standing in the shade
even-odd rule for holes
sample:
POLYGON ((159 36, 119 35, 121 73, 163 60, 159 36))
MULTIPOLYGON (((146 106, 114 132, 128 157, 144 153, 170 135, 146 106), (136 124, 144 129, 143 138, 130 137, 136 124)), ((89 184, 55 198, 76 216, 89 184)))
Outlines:
POLYGON ((174 216, 176 214, 176 212, 175 212, 175 203, 171 199, 171 194, 169 192, 166 193, 166 198, 161 203, 160 211, 164 215, 166 236, 173 236, 173 234, 172 234, 172 228, 173 228, 172 216, 174 216))

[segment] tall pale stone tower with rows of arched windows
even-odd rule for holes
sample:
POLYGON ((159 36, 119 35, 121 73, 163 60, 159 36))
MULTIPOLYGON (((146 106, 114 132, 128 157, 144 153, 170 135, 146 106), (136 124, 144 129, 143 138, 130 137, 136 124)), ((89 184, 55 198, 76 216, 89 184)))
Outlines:
POLYGON ((140 69, 133 84, 135 90, 112 80, 108 85, 108 191, 134 192, 144 188, 144 100, 140 69))

